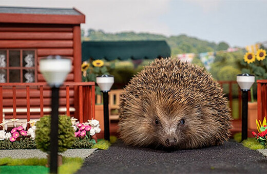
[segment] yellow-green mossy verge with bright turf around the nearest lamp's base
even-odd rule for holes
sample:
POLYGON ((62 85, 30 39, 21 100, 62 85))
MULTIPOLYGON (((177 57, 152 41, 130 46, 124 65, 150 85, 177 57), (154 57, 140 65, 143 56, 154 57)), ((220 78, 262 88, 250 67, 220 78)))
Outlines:
MULTIPOLYGON (((45 167, 47 159, 0 159, 0 173, 48 173, 49 168, 45 167)), ((63 157, 63 165, 58 168, 59 173, 74 173, 83 165, 81 158, 63 157)))

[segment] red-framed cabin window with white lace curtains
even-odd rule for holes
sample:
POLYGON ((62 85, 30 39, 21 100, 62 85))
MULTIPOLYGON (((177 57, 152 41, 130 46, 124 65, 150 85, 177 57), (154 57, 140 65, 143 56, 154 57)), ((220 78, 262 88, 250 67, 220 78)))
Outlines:
POLYGON ((0 50, 0 82, 31 83, 36 81, 36 51, 0 50))

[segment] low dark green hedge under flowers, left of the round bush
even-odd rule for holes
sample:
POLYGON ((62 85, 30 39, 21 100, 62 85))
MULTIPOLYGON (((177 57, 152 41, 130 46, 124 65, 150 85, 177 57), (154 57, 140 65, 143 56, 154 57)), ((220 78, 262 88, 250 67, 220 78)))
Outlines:
POLYGON ((36 149, 36 143, 28 137, 15 142, 7 139, 0 141, 0 149, 36 149))

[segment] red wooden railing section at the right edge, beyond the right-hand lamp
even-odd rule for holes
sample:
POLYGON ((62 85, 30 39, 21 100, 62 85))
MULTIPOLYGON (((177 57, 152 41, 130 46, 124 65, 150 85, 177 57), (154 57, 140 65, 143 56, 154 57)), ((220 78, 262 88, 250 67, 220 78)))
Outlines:
POLYGON ((267 80, 257 80, 258 120, 267 116, 267 80))

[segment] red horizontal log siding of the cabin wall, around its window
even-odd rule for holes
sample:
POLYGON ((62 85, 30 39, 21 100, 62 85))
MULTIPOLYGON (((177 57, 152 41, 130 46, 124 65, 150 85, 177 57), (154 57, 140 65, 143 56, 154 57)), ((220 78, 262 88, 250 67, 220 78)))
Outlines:
MULTIPOLYGON (((41 20, 41 19, 39 19, 41 20)), ((66 82, 81 82, 81 35, 80 25, 40 25, 40 24, 1 24, 0 28, 0 49, 33 49, 36 50, 36 66, 39 60, 49 55, 60 55, 72 60, 72 71, 67 75, 66 82), (77 70, 75 70, 75 69, 77 70)), ((7 62, 8 63, 8 62, 7 62)), ((43 75, 36 72, 36 82, 45 82, 43 75)), ((15 84, 14 84, 15 85, 15 84)), ((13 100, 12 88, 3 87, 3 106, 4 107, 48 107, 50 105, 50 91, 47 87, 29 87, 27 96, 26 90, 16 88, 16 103, 13 100), (40 96, 43 98, 40 100, 40 96), (30 98, 29 103, 25 100, 30 98), (27 105, 28 104, 28 105, 27 105)), ((60 105, 74 107, 76 87, 69 86, 66 90, 60 90, 60 105), (66 94, 66 91, 69 91, 66 94), (66 96, 67 95, 67 96, 66 96), (66 97, 69 98, 66 101, 66 97), (68 102, 68 103, 67 103, 68 102)), ((1 92, 1 89, 0 89, 1 92)), ((79 95, 77 96, 79 97, 79 95)), ((76 97, 76 98, 77 98, 76 97)), ((78 99, 78 98, 77 98, 78 99)), ((76 111, 79 113, 79 100, 75 104, 76 111)), ((0 103, 1 105, 2 103, 0 103)), ((75 113, 77 115, 78 113, 75 113)), ((1 114, 1 113, 0 113, 1 114)), ((41 115, 44 113, 41 112, 41 115)), ((23 114, 15 113, 14 116, 21 117, 23 114)), ((37 115, 36 115, 37 116, 37 115)))

